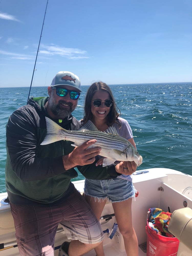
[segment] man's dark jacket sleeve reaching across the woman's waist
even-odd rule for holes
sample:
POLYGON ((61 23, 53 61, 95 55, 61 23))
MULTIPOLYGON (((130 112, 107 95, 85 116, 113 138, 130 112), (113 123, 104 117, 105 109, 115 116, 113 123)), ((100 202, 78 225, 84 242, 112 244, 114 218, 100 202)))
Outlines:
POLYGON ((115 164, 106 167, 95 166, 97 161, 89 165, 77 166, 79 172, 87 179, 112 179, 116 178, 119 173, 115 170, 115 164))

